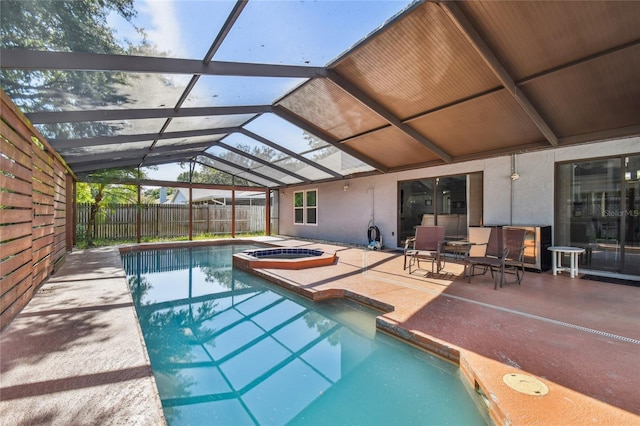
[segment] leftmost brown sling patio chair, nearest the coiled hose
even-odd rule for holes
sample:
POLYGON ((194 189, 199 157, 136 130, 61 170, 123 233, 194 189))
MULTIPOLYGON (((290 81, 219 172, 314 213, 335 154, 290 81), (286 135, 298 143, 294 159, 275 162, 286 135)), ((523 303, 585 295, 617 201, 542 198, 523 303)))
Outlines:
POLYGON ((440 272, 444 268, 444 226, 416 226, 415 237, 407 238, 404 245, 404 269, 415 265, 420 268, 421 260, 431 261, 431 272, 440 272), (408 258, 408 264, 407 264, 408 258))

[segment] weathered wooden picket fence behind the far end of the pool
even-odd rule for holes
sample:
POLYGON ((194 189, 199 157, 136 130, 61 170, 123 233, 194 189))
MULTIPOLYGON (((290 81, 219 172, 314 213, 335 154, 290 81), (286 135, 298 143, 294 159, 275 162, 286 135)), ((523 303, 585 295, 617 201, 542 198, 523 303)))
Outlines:
MULTIPOLYGON (((236 206, 236 233, 265 232, 264 206, 236 206)), ((78 238, 84 238, 90 204, 78 204, 78 238)), ((142 238, 189 235, 189 206, 184 204, 116 204, 103 207, 96 218, 94 239, 131 240, 137 238, 140 212, 142 238)), ((231 206, 194 205, 193 235, 231 234, 231 206)))

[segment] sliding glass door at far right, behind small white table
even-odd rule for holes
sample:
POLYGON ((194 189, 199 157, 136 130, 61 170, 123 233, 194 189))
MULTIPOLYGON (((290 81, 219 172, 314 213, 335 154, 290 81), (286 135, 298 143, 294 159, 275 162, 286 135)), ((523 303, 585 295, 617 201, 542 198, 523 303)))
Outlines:
POLYGON ((559 164, 556 245, 587 269, 640 275, 640 155, 559 164))

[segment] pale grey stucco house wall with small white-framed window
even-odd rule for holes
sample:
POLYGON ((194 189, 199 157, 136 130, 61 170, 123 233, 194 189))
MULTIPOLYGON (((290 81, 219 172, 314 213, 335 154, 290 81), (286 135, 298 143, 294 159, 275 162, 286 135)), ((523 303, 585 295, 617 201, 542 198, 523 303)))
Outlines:
POLYGON ((558 162, 640 154, 640 138, 627 138, 515 156, 520 178, 512 181, 510 155, 429 167, 339 182, 281 189, 280 234, 350 244, 367 244, 367 228, 380 228, 383 245, 397 247, 398 182, 411 179, 483 172, 483 223, 554 224, 554 173, 558 162), (348 188, 345 190, 345 185, 348 188), (318 190, 318 224, 293 223, 293 193, 318 190))

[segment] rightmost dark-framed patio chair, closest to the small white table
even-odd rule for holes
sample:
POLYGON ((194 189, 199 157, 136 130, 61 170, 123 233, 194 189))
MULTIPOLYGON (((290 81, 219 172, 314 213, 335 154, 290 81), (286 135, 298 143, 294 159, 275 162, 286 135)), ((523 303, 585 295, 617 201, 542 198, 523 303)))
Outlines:
POLYGON ((480 275, 475 273, 477 267, 482 268, 482 274, 491 271, 493 288, 498 288, 505 283, 505 274, 515 275, 515 282, 522 283, 524 277, 524 229, 500 227, 491 228, 487 250, 484 256, 468 256, 465 259, 465 274, 468 281, 471 277, 480 275))

